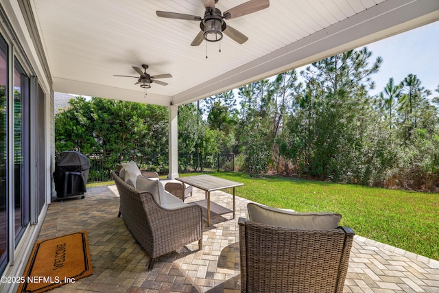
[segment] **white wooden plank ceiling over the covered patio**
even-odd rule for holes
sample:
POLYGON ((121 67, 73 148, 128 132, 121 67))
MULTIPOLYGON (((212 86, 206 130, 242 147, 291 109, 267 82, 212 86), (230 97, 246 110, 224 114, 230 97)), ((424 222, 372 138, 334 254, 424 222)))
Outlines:
MULTIPOLYGON (((247 0, 219 0, 222 12, 247 0)), ((439 19, 438 0, 271 0, 226 21, 248 41, 190 44, 204 15, 200 0, 31 0, 54 91, 150 104, 186 104, 439 19), (206 58, 206 54, 208 58, 206 58), (132 66, 171 73, 144 90, 132 66)))

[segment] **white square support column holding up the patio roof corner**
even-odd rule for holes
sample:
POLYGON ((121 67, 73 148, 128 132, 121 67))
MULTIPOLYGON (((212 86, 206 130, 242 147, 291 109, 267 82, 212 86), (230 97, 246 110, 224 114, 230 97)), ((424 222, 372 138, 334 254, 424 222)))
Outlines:
POLYGON ((169 112, 169 174, 167 178, 178 177, 178 106, 168 106, 169 112))

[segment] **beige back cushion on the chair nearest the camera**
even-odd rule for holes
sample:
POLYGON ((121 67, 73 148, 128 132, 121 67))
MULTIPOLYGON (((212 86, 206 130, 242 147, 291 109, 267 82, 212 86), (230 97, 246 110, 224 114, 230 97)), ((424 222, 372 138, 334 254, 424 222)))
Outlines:
POLYGON ((342 220, 340 213, 296 213, 252 202, 247 205, 247 209, 251 222, 286 228, 327 230, 337 228, 342 220))

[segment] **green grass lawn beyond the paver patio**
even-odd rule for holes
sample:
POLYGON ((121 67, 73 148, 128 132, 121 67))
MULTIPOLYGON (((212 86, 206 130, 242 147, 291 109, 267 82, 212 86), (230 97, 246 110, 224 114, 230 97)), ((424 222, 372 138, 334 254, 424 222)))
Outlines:
MULTIPOLYGON (((180 174, 193 175, 197 174, 180 174)), ((237 187, 241 198, 294 211, 341 213, 340 224, 357 235, 439 260, 439 194, 278 176, 254 178, 241 172, 211 175, 244 183, 237 187)), ((99 183, 108 184, 114 181, 99 183)), ((91 186, 98 185, 87 185, 91 186)))

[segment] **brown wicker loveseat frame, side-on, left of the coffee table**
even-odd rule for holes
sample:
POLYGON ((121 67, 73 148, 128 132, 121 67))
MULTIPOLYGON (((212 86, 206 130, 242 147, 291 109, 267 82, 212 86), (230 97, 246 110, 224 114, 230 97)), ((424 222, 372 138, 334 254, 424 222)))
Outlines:
POLYGON ((164 209, 147 191, 139 191, 111 172, 120 196, 120 213, 134 238, 154 262, 186 244, 198 241, 202 249, 202 210, 196 204, 164 209))

